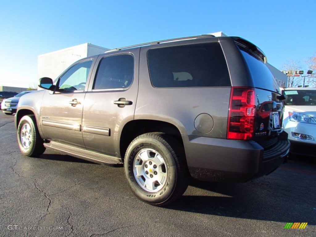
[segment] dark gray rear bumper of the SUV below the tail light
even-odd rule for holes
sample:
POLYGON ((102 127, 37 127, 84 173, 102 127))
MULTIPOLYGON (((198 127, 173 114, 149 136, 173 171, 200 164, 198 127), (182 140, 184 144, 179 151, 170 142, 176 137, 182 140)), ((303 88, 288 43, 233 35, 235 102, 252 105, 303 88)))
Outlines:
POLYGON ((270 149, 254 141, 182 136, 191 176, 217 182, 245 182, 271 173, 289 153, 289 141, 270 149))

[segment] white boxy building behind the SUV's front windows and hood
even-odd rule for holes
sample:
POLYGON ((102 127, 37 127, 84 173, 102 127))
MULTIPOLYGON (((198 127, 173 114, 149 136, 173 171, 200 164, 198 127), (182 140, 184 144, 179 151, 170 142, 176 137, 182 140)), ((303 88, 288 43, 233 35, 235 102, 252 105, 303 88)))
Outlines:
POLYGON ((38 78, 56 79, 66 68, 81 58, 104 53, 109 49, 85 43, 38 56, 38 78))

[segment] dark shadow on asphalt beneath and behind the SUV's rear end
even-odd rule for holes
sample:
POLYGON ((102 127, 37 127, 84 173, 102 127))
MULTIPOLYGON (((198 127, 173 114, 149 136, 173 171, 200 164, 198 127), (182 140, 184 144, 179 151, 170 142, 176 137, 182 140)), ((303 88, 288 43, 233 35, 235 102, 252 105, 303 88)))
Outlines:
POLYGON ((186 195, 186 192, 165 208, 223 217, 316 225, 315 192, 302 194, 293 190, 295 186, 291 188, 290 184, 287 188, 260 179, 236 184, 191 180, 190 186, 213 193, 202 191, 201 196, 201 191, 197 191, 197 195, 186 195), (306 196, 305 200, 301 195, 306 196))

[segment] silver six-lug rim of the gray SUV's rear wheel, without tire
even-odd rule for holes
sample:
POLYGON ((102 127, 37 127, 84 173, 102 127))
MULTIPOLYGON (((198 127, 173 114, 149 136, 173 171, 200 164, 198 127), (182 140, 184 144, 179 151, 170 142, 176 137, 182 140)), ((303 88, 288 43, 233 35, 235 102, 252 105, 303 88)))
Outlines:
POLYGON ((154 149, 140 150, 135 157, 133 167, 138 185, 147 192, 158 192, 167 182, 166 162, 154 149))

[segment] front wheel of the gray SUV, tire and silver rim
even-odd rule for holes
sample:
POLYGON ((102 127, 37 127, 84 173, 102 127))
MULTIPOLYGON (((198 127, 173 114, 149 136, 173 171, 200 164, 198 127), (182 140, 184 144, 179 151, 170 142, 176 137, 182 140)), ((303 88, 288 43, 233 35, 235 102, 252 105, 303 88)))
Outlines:
POLYGON ((22 117, 18 125, 17 138, 23 155, 37 157, 42 155, 46 149, 37 129, 34 115, 22 117))

